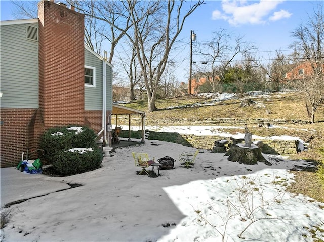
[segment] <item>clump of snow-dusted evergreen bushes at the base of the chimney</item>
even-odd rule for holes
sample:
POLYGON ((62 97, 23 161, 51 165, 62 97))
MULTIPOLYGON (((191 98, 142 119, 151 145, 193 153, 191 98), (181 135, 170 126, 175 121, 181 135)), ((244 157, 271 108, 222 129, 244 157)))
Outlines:
POLYGON ((88 128, 66 126, 48 129, 41 137, 45 159, 62 175, 74 175, 101 166, 102 152, 95 143, 96 133, 88 128), (73 148, 92 148, 84 153, 69 152, 73 148))

